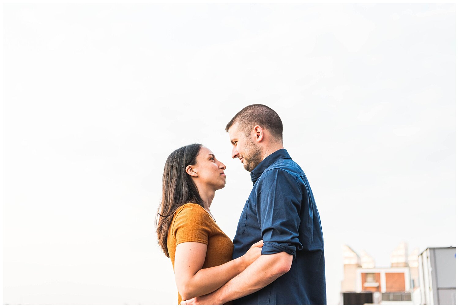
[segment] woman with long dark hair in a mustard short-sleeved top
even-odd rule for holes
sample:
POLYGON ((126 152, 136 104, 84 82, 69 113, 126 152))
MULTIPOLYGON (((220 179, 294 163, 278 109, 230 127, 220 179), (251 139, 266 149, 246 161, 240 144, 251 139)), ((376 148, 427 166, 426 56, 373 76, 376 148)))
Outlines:
POLYGON ((172 261, 179 304, 217 290, 261 255, 263 241, 231 260, 233 242, 210 213, 215 191, 225 186, 225 168, 202 144, 179 148, 166 160, 157 235, 172 261))

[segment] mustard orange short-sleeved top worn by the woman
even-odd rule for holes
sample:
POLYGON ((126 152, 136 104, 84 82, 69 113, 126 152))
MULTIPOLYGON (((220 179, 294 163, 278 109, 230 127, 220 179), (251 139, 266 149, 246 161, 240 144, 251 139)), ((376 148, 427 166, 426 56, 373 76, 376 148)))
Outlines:
MULTIPOLYGON (((168 231, 168 252, 174 267, 175 248, 180 243, 207 244, 203 269, 225 264, 232 259, 234 245, 201 205, 186 203, 174 214, 168 231)), ((179 304, 182 297, 179 294, 179 304)))

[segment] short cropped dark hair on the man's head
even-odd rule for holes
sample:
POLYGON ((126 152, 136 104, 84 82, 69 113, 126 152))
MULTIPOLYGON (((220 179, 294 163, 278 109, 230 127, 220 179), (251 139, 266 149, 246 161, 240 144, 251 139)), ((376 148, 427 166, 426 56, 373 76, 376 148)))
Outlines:
POLYGON ((274 138, 282 141, 282 121, 279 115, 268 106, 253 104, 244 107, 228 122, 225 127, 226 132, 235 123, 238 123, 240 129, 245 131, 247 135, 255 125, 259 125, 269 130, 274 138))

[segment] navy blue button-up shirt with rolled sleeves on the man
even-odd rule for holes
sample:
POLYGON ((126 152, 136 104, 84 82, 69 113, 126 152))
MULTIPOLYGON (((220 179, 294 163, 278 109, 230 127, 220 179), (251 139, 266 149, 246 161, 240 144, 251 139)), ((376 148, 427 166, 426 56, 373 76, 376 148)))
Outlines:
POLYGON ((233 259, 263 239, 262 254, 286 252, 291 269, 234 304, 326 304, 324 237, 311 187, 285 149, 251 172, 253 188, 233 240, 233 259))

